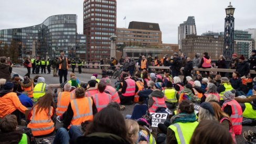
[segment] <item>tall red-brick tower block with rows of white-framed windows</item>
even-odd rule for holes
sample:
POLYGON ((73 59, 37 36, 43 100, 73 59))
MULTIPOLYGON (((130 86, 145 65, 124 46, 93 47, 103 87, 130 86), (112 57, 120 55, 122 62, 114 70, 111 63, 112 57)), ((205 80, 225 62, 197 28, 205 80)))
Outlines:
POLYGON ((83 34, 87 36, 86 60, 110 57, 110 37, 116 33, 116 0, 83 2, 83 34))

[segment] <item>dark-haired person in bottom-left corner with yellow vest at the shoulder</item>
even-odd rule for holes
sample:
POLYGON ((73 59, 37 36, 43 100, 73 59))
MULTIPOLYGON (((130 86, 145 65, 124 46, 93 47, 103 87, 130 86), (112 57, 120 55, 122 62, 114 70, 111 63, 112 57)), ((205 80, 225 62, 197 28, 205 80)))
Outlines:
POLYGON ((15 115, 6 115, 0 120, 0 143, 29 143, 29 138, 21 130, 17 130, 18 122, 15 115))

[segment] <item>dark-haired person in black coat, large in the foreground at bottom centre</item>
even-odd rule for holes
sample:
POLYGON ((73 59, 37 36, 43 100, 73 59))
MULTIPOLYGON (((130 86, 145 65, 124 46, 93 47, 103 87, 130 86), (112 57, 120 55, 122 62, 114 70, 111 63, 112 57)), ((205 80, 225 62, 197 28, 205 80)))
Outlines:
POLYGON ((105 107, 97 113, 92 123, 87 126, 84 136, 78 137, 71 143, 130 143, 124 118, 113 107, 105 107), (115 117, 115 118, 113 118, 115 117))

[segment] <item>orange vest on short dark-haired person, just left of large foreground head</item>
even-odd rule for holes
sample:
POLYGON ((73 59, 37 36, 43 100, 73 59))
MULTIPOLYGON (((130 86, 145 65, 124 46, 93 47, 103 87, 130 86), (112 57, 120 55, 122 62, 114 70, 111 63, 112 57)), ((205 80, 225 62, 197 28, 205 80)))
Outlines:
POLYGON ((92 103, 93 101, 90 97, 83 97, 70 101, 72 111, 74 113, 71 125, 79 126, 84 121, 92 121, 92 103))

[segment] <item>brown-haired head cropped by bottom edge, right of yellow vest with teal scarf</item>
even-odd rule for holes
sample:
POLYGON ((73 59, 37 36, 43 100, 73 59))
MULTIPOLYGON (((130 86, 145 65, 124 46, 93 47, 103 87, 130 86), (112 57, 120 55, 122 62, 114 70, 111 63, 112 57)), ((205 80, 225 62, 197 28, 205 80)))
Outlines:
POLYGON ((190 144, 217 144, 217 143, 233 143, 232 137, 224 126, 217 121, 204 120, 196 127, 190 144))

